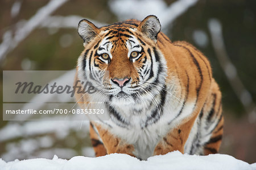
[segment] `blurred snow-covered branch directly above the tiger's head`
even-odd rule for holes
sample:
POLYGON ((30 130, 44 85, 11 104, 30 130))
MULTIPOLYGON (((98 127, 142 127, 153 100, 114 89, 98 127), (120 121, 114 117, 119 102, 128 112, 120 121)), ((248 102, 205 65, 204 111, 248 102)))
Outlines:
POLYGON ((147 15, 156 15, 164 30, 170 26, 175 19, 184 14, 189 7, 195 5, 197 1, 198 0, 179 0, 167 6, 162 0, 114 0, 110 1, 109 7, 120 20, 131 18, 142 20, 147 15))

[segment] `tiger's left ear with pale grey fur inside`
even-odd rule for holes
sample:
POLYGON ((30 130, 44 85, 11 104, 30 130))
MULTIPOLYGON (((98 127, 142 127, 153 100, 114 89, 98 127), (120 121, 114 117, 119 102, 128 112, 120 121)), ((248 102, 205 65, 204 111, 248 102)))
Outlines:
POLYGON ((82 19, 79 22, 77 32, 84 40, 84 46, 92 41, 99 33, 100 29, 87 19, 82 19))

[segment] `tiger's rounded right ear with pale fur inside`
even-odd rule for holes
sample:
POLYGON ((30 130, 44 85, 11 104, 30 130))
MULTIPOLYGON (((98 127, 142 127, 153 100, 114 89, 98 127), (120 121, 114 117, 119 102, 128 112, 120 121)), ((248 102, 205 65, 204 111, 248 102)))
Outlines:
POLYGON ((139 24, 138 30, 156 42, 158 33, 161 30, 161 24, 155 15, 148 15, 139 24))

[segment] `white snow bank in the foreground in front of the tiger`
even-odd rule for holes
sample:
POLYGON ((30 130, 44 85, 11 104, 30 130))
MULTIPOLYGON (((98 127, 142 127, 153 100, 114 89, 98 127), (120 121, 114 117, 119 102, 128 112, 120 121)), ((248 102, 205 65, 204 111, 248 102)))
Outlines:
POLYGON ((229 155, 213 154, 197 156, 179 151, 149 157, 140 161, 126 154, 110 154, 101 157, 75 156, 70 160, 28 159, 5 162, 0 159, 0 169, 256 169, 256 163, 248 164, 229 155))

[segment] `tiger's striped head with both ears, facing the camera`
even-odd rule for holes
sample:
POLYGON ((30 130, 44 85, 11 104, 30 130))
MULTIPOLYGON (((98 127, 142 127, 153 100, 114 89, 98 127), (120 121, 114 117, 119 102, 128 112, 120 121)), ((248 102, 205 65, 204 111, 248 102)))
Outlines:
POLYGON ((78 32, 85 49, 78 61, 79 79, 86 77, 110 103, 152 101, 166 78, 166 61, 156 44, 160 28, 154 15, 101 28, 81 20, 78 32))

